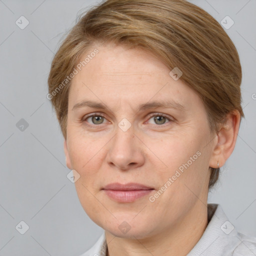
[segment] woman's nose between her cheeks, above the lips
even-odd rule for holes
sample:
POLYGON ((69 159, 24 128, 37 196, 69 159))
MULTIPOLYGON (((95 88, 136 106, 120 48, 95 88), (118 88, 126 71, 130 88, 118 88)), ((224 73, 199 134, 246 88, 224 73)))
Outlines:
POLYGON ((117 127, 115 136, 109 143, 106 160, 109 165, 116 169, 128 170, 143 165, 143 143, 134 134, 133 127, 123 131, 117 127))

